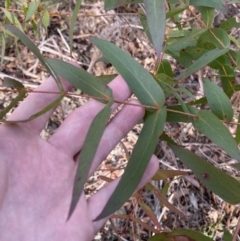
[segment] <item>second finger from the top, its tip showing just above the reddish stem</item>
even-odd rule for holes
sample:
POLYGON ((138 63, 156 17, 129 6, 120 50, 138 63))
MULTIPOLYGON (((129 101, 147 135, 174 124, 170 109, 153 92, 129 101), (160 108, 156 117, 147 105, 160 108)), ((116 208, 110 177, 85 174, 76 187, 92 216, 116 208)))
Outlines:
MULTIPOLYGON (((120 102, 126 101, 131 91, 121 76, 117 76, 110 84, 113 97, 120 102)), ((114 103, 112 111, 119 106, 114 103)), ((83 146, 88 129, 96 114, 104 107, 104 104, 91 100, 84 106, 74 110, 58 128, 58 130, 49 138, 48 142, 66 154, 74 156, 83 146)))

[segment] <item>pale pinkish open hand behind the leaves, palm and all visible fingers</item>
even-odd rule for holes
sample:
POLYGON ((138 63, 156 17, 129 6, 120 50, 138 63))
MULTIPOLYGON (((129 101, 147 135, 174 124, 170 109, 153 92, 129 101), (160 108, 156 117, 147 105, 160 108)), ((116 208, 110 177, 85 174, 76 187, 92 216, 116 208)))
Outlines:
MULTIPOLYGON (((64 89, 72 86, 62 80, 64 89)), ((109 85, 114 99, 126 101, 131 91, 121 76, 109 85)), ((57 91, 50 77, 37 91, 57 91)), ((54 94, 30 94, 9 117, 23 120, 56 98, 54 94)), ((137 100, 132 103, 140 105, 137 100)), ((119 104, 114 103, 112 110, 119 104)), ((82 148, 90 123, 104 105, 90 100, 74 110, 48 139, 40 132, 52 111, 27 123, 0 126, 0 240, 3 241, 91 241, 107 218, 93 221, 102 211, 119 180, 107 184, 91 198, 82 194, 67 220, 71 202, 76 156, 82 148)), ((89 176, 115 145, 144 116, 139 106, 125 105, 106 126, 89 176)), ((138 185, 142 188, 156 173, 158 160, 152 156, 138 185)))

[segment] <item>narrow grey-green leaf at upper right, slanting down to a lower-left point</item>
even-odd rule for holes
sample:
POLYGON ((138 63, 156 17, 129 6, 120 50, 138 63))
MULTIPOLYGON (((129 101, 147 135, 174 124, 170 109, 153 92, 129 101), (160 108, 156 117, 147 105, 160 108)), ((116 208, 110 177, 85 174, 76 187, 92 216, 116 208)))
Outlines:
POLYGON ((175 79, 180 80, 182 78, 186 78, 187 76, 191 75, 192 73, 195 73, 197 70, 203 68, 210 62, 212 62, 214 59, 218 58, 219 56, 225 54, 228 52, 228 48, 225 49, 213 49, 204 54, 202 57, 197 59, 191 66, 189 66, 188 69, 183 71, 181 74, 179 74, 175 79))

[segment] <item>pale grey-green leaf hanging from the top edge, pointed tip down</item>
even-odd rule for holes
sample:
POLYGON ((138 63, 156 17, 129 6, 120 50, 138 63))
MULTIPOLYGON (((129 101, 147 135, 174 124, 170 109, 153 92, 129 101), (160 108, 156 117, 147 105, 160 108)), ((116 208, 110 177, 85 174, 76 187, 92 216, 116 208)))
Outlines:
POLYGON ((166 28, 165 0, 144 0, 147 23, 157 58, 160 60, 166 28))

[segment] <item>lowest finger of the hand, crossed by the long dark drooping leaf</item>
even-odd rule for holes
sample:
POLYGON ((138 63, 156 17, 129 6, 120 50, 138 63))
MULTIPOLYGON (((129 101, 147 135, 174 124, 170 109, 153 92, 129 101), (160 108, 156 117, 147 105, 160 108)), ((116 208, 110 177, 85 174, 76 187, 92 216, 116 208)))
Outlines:
MULTIPOLYGON (((159 168, 158 159, 156 156, 152 156, 152 158, 143 174, 143 177, 142 177, 140 183, 138 184, 136 191, 141 189, 146 183, 148 183, 151 180, 152 176, 157 172, 158 168, 159 168)), ((88 210, 92 217, 92 220, 95 220, 96 217, 101 213, 101 211, 105 207, 107 201, 109 200, 110 196, 116 189, 119 181, 120 181, 120 178, 107 184, 97 194, 93 195, 92 197, 90 197, 87 200, 88 210)), ((96 232, 104 225, 104 223, 108 220, 108 218, 109 217, 106 217, 99 221, 93 222, 96 232)))

